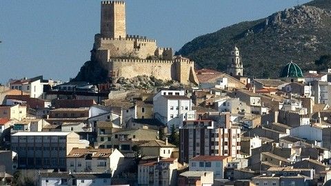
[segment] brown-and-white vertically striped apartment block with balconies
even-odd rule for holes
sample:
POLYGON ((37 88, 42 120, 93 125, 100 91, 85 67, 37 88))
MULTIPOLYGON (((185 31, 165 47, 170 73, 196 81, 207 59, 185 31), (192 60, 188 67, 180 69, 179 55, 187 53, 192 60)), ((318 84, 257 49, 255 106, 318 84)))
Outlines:
POLYGON ((179 129, 181 138, 180 162, 188 163, 191 158, 205 156, 239 156, 241 130, 231 125, 230 116, 225 125, 212 120, 183 121, 179 129))

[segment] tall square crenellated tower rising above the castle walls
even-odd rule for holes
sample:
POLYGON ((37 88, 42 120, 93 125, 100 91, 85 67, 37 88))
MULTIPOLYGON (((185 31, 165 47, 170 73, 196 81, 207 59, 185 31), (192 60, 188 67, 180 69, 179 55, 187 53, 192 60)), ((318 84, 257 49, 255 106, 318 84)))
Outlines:
POLYGON ((101 1, 102 37, 126 37, 126 3, 123 1, 101 1))

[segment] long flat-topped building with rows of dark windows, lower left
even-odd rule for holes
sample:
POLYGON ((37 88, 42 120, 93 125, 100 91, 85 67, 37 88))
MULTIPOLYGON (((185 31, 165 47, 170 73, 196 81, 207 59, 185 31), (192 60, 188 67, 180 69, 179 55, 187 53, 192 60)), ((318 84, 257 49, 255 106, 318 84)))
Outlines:
POLYGON ((11 147, 19 154, 19 168, 66 169, 66 156, 74 147, 88 147, 74 132, 17 132, 11 147))

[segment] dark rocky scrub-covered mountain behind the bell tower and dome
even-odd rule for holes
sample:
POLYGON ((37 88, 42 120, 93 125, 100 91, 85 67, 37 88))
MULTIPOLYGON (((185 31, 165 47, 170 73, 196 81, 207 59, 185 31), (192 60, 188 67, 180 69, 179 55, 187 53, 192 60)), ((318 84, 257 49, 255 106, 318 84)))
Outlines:
POLYGON ((315 69, 314 61, 331 53, 330 10, 331 0, 312 1, 197 37, 178 53, 196 61, 198 68, 226 70, 230 50, 237 45, 245 75, 254 77, 277 77, 291 60, 303 70, 315 69))

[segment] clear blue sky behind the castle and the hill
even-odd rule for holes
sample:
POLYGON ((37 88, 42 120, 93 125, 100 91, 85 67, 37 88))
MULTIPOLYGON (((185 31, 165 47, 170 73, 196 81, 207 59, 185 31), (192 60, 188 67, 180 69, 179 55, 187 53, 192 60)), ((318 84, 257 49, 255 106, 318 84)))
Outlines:
MULTIPOLYGON (((299 0, 306 3, 308 0, 299 0)), ((128 34, 179 50, 225 26, 267 17, 297 0, 127 0, 128 34)), ((90 59, 100 1, 1 1, 0 83, 43 75, 68 81, 90 59)))

